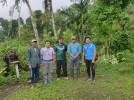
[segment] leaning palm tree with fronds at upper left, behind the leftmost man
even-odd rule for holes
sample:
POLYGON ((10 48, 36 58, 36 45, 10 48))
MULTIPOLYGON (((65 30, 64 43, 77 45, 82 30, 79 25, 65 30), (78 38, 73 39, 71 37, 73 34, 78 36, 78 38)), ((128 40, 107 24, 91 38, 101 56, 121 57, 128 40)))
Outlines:
MULTIPOLYGON (((35 23, 33 12, 32 12, 31 6, 29 4, 29 1, 28 0, 15 0, 14 7, 18 7, 19 3, 21 3, 21 2, 26 3, 26 5, 28 7, 30 17, 31 17, 31 21, 32 21, 32 26, 33 26, 33 29, 34 29, 35 38, 37 40, 38 47, 41 48, 40 39, 39 39, 39 35, 38 35, 38 30, 37 30, 37 25, 35 23)), ((2 5, 4 6, 5 4, 7 4, 7 0, 1 0, 0 3, 2 3, 2 5)))

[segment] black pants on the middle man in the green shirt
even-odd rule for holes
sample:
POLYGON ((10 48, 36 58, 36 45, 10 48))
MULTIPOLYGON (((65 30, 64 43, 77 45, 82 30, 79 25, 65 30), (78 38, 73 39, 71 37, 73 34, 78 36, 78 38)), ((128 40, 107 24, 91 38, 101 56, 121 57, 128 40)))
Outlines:
POLYGON ((62 65, 62 68, 63 68, 64 77, 67 77, 67 63, 66 63, 66 60, 57 60, 57 69, 56 69, 57 78, 60 77, 61 65, 62 65))

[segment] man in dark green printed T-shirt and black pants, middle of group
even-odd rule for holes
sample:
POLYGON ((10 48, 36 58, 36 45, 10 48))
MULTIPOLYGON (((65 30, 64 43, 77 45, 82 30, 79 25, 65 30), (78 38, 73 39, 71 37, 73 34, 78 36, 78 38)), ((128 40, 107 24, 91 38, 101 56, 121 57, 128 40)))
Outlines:
POLYGON ((59 43, 57 43, 54 47, 55 50, 55 56, 56 56, 56 73, 57 73, 57 80, 60 80, 60 70, 61 66, 63 68, 64 77, 68 79, 67 77, 67 63, 66 63, 66 51, 67 46, 63 43, 63 37, 59 38, 59 43))

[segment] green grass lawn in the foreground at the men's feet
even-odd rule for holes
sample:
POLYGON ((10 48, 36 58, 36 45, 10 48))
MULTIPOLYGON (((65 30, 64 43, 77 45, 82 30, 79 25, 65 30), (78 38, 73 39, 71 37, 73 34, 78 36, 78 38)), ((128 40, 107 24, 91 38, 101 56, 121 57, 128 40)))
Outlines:
MULTIPOLYGON (((81 65, 85 70, 85 66, 81 65)), ((54 73, 55 74, 55 73, 54 73)), ((52 84, 43 84, 30 90, 30 85, 18 87, 5 100, 134 100, 134 54, 115 65, 96 63, 96 81, 86 81, 86 72, 80 80, 53 78, 52 84)))

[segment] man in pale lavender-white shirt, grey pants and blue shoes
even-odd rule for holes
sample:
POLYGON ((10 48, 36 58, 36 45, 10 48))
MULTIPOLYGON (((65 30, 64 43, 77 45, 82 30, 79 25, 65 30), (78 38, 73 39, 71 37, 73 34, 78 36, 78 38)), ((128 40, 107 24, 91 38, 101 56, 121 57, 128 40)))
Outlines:
POLYGON ((47 84, 47 80, 49 83, 52 83, 52 72, 53 72, 53 64, 55 61, 54 57, 54 49, 50 47, 50 41, 45 41, 45 48, 41 49, 41 59, 43 63, 43 76, 44 76, 44 84, 47 84), (48 70, 48 78, 47 78, 47 70, 48 70))

